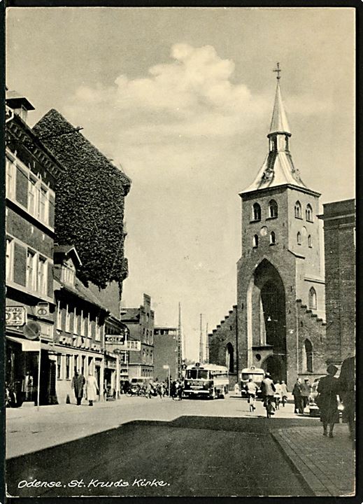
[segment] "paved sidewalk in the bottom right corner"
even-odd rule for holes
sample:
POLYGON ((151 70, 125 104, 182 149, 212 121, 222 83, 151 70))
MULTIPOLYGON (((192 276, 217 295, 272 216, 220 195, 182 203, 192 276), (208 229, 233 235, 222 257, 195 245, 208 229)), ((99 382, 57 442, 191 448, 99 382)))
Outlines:
POLYGON ((334 438, 322 426, 278 429, 272 433, 316 496, 355 495, 355 451, 348 424, 334 427, 334 438))

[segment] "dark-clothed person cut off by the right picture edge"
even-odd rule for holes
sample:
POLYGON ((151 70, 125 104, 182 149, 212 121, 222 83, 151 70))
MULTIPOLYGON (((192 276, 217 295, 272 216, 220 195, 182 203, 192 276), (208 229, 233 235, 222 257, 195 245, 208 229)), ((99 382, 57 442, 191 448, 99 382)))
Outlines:
POLYGON ((355 449, 355 357, 347 357, 339 375, 339 397, 343 402, 343 422, 348 422, 350 438, 355 449))

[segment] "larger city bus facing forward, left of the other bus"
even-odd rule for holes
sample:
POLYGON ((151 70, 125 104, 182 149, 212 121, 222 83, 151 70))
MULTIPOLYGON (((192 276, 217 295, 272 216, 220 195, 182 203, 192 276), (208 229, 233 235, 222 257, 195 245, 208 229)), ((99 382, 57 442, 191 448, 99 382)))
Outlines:
POLYGON ((225 398, 228 393, 228 369, 217 364, 195 363, 185 372, 185 397, 205 396, 211 399, 225 398))

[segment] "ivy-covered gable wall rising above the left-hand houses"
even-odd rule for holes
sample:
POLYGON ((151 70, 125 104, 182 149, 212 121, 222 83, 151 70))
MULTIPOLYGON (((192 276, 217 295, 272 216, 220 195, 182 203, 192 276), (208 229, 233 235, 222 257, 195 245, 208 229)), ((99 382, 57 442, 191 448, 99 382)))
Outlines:
POLYGON ((55 232, 59 245, 76 246, 79 278, 105 288, 127 276, 124 260, 124 197, 131 181, 52 109, 34 126, 65 168, 57 179, 55 232))

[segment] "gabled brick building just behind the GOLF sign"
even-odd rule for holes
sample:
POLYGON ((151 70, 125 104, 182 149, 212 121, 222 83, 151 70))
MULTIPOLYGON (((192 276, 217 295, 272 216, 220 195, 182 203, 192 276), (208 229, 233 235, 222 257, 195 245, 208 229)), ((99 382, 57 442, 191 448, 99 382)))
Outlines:
POLYGON ((129 328, 130 342, 141 342, 139 351, 129 351, 129 379, 154 378, 154 311, 150 296, 144 294, 138 308, 122 308, 121 321, 129 328))

